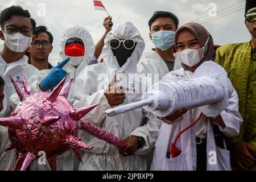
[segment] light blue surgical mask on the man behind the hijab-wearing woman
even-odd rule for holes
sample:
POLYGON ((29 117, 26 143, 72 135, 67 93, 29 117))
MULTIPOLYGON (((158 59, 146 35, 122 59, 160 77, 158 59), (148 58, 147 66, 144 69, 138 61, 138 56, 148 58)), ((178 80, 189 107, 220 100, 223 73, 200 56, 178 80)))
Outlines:
POLYGON ((156 48, 166 51, 174 46, 174 31, 161 30, 152 34, 153 44, 156 48))

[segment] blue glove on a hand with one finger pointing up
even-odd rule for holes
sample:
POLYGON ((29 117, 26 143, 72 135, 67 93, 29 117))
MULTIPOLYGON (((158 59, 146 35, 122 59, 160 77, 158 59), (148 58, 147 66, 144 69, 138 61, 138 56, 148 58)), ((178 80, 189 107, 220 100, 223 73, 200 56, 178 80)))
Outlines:
POLYGON ((64 77, 67 76, 67 72, 62 68, 69 60, 70 57, 67 57, 60 64, 56 65, 56 67, 52 68, 47 77, 41 81, 41 85, 44 90, 48 91, 55 88, 64 79, 64 77))

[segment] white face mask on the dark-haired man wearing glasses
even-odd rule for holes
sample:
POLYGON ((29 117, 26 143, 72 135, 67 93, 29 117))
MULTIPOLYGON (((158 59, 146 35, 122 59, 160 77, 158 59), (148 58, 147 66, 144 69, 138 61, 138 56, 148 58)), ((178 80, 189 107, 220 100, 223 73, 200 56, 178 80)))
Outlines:
POLYGON ((24 36, 20 32, 4 35, 6 46, 13 52, 25 52, 32 42, 32 37, 24 36))

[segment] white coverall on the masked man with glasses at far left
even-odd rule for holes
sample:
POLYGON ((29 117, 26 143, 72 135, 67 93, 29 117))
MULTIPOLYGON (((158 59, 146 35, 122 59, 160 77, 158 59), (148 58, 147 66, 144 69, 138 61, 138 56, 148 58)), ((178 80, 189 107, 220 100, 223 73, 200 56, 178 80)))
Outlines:
MULTIPOLYGON (((13 63, 7 64, 0 55, 0 76, 5 80, 5 100, 3 100, 3 110, 0 113, 0 118, 9 117, 10 111, 8 106, 10 104, 10 96, 16 93, 13 83, 11 82, 10 75, 14 76, 14 79, 19 82, 19 85, 23 88, 22 75, 29 78, 38 71, 35 67, 27 63, 28 57, 24 56, 22 59, 13 63)), ((15 150, 4 152, 10 145, 8 137, 8 129, 0 126, 0 171, 1 170, 13 170, 15 150)))

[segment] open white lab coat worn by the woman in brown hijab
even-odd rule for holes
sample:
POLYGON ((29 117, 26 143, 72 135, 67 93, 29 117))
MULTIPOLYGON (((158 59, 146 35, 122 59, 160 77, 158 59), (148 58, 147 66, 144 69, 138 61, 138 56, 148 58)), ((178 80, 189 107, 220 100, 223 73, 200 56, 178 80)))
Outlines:
MULTIPOLYGON (((183 68, 168 73, 161 82, 171 82, 184 80, 187 78, 183 68)), ((159 131, 158 140, 155 144, 155 153, 151 170, 171 170, 184 171, 196 170, 196 143, 195 127, 185 131, 177 142, 177 147, 181 148, 181 154, 176 158, 166 158, 166 153, 170 151, 170 143, 173 143, 177 134, 191 125, 196 118, 193 118, 193 110, 189 110, 182 117, 177 118, 171 125, 162 123, 159 131)), ((239 134, 242 117, 238 111, 238 96, 233 89, 232 96, 229 98, 229 105, 221 113, 221 117, 226 125, 225 129, 219 126, 227 137, 235 137, 239 134)), ((207 119, 207 170, 221 171, 231 170, 229 151, 218 147, 214 141, 213 123, 207 119), (215 158, 214 158, 215 157, 215 158), (217 158, 217 161, 214 159, 217 158)))

